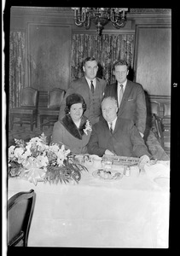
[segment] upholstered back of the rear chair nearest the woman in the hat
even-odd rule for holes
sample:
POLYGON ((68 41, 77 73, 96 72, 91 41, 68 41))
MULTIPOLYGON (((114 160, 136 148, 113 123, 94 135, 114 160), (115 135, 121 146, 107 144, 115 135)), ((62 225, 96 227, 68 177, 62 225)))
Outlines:
POLYGON ((60 108, 65 90, 55 88, 48 91, 48 108, 60 108))

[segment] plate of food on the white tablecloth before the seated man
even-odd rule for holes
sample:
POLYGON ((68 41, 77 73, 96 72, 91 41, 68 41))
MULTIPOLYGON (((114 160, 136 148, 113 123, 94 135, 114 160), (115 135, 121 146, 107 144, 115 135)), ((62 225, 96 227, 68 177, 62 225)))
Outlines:
POLYGON ((116 171, 109 171, 109 172, 105 171, 103 169, 98 169, 98 170, 92 172, 92 176, 96 177, 102 181, 105 181, 105 182, 118 181, 119 179, 121 179, 123 177, 123 174, 120 172, 116 172, 116 171))

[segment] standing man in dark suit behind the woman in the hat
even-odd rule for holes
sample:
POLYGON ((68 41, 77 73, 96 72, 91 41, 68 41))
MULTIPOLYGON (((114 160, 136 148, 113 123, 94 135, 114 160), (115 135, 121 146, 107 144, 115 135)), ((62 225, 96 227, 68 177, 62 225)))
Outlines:
POLYGON ((59 119, 64 116, 67 96, 78 93, 84 97, 84 102, 87 106, 84 115, 90 119, 92 125, 99 120, 99 117, 102 115, 101 102, 106 87, 106 81, 96 78, 97 70, 96 59, 87 57, 83 62, 84 77, 76 79, 70 84, 61 103, 59 119))

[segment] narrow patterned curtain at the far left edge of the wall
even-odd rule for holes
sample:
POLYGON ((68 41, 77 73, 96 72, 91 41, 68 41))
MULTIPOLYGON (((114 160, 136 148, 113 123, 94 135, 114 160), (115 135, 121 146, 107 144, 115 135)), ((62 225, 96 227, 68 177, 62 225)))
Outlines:
POLYGON ((9 44, 9 108, 15 108, 25 84, 25 32, 10 32, 9 44))

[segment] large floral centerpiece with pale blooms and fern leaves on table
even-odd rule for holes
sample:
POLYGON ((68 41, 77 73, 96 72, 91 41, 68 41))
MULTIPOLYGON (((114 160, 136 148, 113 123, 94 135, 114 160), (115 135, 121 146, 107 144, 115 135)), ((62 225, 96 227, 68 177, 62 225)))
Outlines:
POLYGON ((64 145, 48 145, 44 133, 25 143, 15 139, 9 147, 9 177, 26 178, 37 185, 38 181, 69 183, 81 178, 81 171, 87 169, 73 161, 73 155, 64 145))

